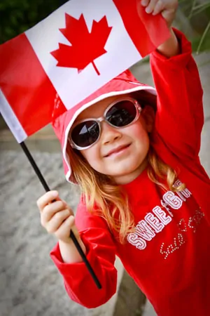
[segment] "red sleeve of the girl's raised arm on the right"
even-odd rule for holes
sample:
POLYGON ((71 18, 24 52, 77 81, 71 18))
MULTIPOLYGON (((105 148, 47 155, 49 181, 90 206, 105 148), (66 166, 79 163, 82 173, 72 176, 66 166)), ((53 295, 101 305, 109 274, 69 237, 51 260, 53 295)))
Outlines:
MULTIPOLYGON (((166 58, 151 53, 151 70, 158 92, 155 133, 182 159, 194 159, 200 152, 204 124, 202 86, 190 42, 174 29, 181 53, 166 58)), ((154 138, 155 138, 154 133, 154 138)))

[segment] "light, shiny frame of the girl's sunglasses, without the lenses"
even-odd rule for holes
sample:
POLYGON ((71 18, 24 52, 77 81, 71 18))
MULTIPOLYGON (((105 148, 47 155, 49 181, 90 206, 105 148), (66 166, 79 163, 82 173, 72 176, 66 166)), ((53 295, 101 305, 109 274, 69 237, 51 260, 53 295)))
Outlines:
MULTIPOLYGON (((109 124, 110 126, 114 127, 115 129, 123 129, 124 127, 130 126, 130 125, 133 124, 135 121, 137 121, 137 119, 139 119, 139 116, 140 116, 140 114, 141 114, 141 110, 142 110, 142 107, 141 107, 141 105, 139 104, 139 102, 138 102, 136 99, 130 98, 130 97, 127 97, 127 98, 120 98, 120 99, 114 101, 113 103, 111 103, 108 107, 106 107, 106 110, 104 111, 104 115, 103 115, 102 117, 99 117, 98 119, 96 119, 96 118, 82 119, 82 120, 78 121, 78 122, 76 123, 76 125, 73 126, 73 128, 74 128, 74 127, 78 126, 78 124, 83 123, 83 122, 85 122, 85 121, 96 121, 97 124, 99 125, 99 136, 98 136, 97 140, 95 140, 94 143, 92 143, 91 145, 88 145, 88 146, 86 146, 86 147, 80 147, 80 146, 76 145, 76 143, 74 143, 73 140, 72 140, 72 138, 71 138, 71 131, 70 131, 70 133, 69 133, 69 143, 70 143, 70 145, 71 145, 71 147, 72 147, 73 149, 76 149, 76 150, 86 150, 86 149, 92 147, 92 145, 96 144, 97 141, 99 140, 99 138, 100 138, 100 136, 101 136, 101 133, 102 133, 102 128, 101 128, 101 123, 102 123, 102 121, 106 121, 107 124, 109 124), (117 103, 120 103, 120 102, 122 102, 122 101, 131 101, 131 102, 133 103, 134 107, 136 108, 137 114, 136 114, 136 117, 134 118, 134 120, 130 122, 130 124, 127 124, 127 125, 125 125, 125 126, 115 126, 115 125, 111 124, 111 123, 106 119, 106 114, 107 114, 107 112, 109 112, 109 110, 111 109, 111 107, 113 107, 113 105, 116 105, 117 103)), ((72 129, 72 131, 73 131, 73 129, 72 129)))

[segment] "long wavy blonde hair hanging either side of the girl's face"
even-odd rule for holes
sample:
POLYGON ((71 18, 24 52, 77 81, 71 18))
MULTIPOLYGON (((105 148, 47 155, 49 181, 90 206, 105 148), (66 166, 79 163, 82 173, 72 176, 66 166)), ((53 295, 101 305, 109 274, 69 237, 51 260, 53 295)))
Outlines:
MULTIPOLYGON (((129 197, 123 192, 120 185, 113 182, 110 176, 92 169, 80 152, 69 148, 68 153, 72 169, 71 179, 80 185, 87 210, 90 212, 94 210, 104 218, 109 230, 118 232, 119 241, 123 244, 127 233, 134 232, 135 226, 129 197)), ((174 187, 174 181, 177 178, 176 171, 162 162, 153 147, 148 151, 147 173, 148 178, 165 191, 179 192, 185 189, 184 184, 174 187), (166 180, 167 185, 163 180, 166 180)))

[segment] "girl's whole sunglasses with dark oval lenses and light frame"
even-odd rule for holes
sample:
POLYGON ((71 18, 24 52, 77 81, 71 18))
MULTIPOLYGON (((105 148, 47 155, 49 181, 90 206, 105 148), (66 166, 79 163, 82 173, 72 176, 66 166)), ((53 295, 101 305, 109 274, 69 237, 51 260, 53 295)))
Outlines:
POLYGON ((71 147, 85 150, 97 143, 101 136, 101 122, 120 129, 137 121, 141 113, 141 106, 133 98, 122 98, 111 103, 106 108, 103 117, 99 119, 83 119, 78 121, 69 134, 71 147))

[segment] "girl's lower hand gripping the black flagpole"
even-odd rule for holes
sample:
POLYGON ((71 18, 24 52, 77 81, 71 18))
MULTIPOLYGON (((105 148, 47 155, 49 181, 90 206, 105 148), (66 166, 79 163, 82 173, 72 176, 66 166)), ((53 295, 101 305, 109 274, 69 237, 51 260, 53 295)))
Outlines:
POLYGON ((66 202, 59 199, 57 191, 49 191, 37 200, 37 206, 41 213, 41 225, 50 234, 54 234, 59 241, 71 244, 69 237, 73 233, 80 239, 78 230, 74 225, 73 211, 66 202), (56 200, 55 202, 52 202, 56 200))

